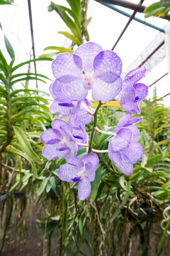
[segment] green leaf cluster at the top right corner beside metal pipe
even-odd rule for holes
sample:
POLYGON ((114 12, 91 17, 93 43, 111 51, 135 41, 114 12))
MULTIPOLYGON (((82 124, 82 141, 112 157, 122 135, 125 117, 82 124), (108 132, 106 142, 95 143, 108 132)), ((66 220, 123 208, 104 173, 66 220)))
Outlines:
POLYGON ((144 9, 144 17, 148 18, 151 16, 164 17, 170 11, 170 1, 161 0, 159 2, 153 3, 144 9))

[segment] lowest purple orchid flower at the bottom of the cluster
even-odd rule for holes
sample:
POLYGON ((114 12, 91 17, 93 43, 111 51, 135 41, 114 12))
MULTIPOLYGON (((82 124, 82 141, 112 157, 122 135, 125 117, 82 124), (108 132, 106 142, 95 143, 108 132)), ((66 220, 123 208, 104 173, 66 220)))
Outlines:
POLYGON ((95 169, 99 164, 96 154, 90 153, 81 159, 75 157, 71 163, 63 164, 58 169, 59 179, 67 182, 77 182, 78 198, 85 200, 90 195, 91 183, 95 179, 95 169))

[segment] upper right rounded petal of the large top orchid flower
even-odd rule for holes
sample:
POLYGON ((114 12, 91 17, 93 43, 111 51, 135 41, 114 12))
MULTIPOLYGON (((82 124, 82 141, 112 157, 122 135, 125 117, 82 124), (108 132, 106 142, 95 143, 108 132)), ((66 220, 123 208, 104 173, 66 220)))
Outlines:
POLYGON ((122 61, 110 50, 101 51, 94 58, 94 76, 106 83, 115 82, 121 75, 122 61))

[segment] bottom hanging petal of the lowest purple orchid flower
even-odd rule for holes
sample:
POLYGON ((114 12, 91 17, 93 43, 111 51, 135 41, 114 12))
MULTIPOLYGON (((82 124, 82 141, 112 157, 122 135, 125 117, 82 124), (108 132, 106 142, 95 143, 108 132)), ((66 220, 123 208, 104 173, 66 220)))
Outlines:
POLYGON ((83 177, 83 179, 77 185, 78 198, 80 200, 85 200, 90 195, 91 183, 88 177, 83 177))

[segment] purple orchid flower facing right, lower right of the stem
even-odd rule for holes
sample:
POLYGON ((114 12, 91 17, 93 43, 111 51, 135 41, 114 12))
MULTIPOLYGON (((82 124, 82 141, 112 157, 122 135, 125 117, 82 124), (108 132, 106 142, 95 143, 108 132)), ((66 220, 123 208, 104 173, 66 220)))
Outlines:
POLYGON ((133 173, 133 163, 143 155, 143 148, 137 142, 140 133, 134 125, 142 120, 142 118, 129 118, 132 113, 126 113, 118 122, 115 130, 117 135, 108 139, 108 156, 117 168, 126 175, 133 173))

